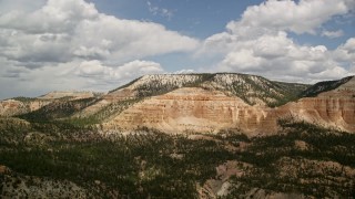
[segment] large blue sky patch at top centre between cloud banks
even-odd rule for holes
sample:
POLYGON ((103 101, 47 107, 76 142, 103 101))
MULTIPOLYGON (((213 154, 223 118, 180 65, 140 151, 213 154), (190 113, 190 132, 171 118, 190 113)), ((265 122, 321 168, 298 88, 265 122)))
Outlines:
POLYGON ((247 6, 261 0, 95 0, 102 12, 124 19, 148 20, 168 29, 200 39, 224 30, 225 24, 240 18, 247 6), (151 6, 149 6, 149 3, 151 6), (158 8, 156 13, 152 8, 158 8), (166 9, 171 15, 162 13, 166 9))

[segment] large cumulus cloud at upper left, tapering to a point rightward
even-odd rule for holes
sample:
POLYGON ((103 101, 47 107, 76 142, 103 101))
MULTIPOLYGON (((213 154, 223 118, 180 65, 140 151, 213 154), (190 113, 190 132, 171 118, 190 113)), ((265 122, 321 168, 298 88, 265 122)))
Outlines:
POLYGON ((158 23, 100 13, 84 0, 49 0, 31 12, 2 13, 0 43, 0 55, 20 62, 85 59, 124 63, 156 54, 189 52, 199 41, 158 23))

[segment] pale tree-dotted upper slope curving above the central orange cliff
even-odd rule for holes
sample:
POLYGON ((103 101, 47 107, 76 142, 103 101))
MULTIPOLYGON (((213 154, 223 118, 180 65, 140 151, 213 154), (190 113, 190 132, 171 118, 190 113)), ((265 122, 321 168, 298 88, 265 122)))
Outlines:
POLYGON ((138 102, 182 87, 219 91, 226 96, 240 97, 248 105, 274 107, 295 101, 308 86, 273 82, 261 76, 237 73, 144 75, 109 92, 73 117, 95 123, 109 122, 138 102))

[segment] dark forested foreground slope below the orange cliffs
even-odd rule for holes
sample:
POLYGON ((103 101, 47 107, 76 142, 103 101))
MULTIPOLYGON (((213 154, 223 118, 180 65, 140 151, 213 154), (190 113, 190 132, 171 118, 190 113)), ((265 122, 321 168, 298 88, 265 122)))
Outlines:
POLYGON ((217 135, 141 129, 102 136, 59 124, 1 118, 0 124, 4 198, 348 198, 355 193, 355 135, 310 124, 284 121, 277 135, 254 138, 236 129, 217 135), (22 125, 14 132, 17 124, 22 125), (3 139, 4 133, 17 137, 3 139))

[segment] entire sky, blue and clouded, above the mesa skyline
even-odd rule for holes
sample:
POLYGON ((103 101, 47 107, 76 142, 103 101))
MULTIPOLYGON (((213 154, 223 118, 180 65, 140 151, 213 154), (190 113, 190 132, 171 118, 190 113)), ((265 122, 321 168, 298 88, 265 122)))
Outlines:
POLYGON ((354 0, 0 0, 0 100, 145 74, 355 74, 354 0))

